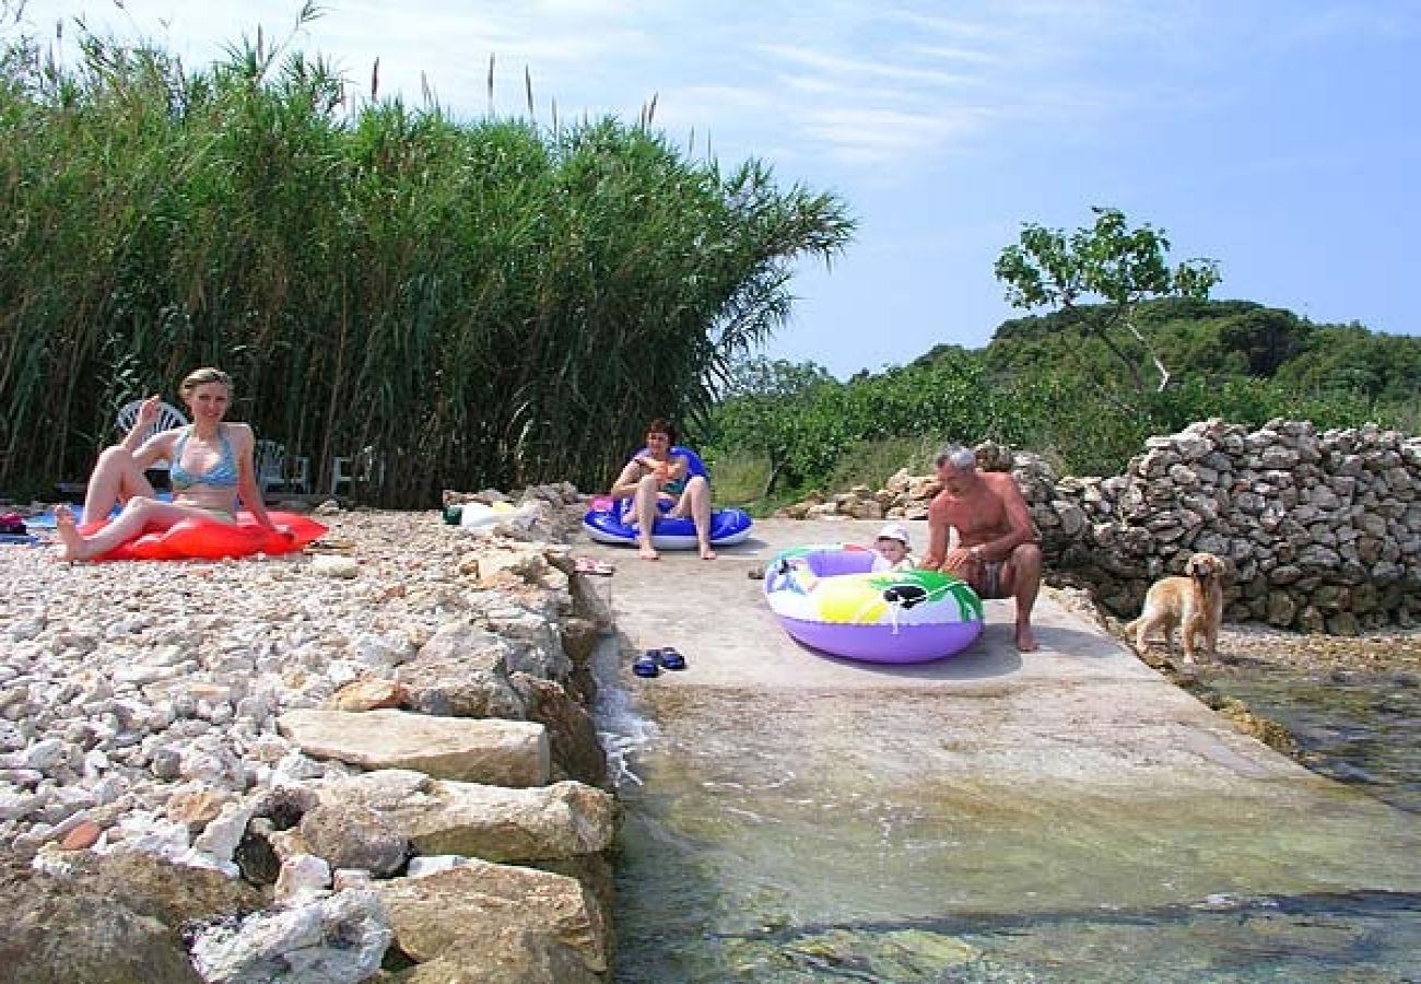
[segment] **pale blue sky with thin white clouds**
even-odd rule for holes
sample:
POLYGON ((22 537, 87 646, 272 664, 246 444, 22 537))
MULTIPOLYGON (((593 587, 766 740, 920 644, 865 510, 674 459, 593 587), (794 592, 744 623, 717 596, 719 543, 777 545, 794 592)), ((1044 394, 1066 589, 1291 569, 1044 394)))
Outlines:
MULTIPOLYGON (((17 0, 0 0, 14 17, 17 0)), ((243 37, 323 55, 368 94, 458 118, 654 122, 692 155, 759 158, 857 222, 796 267, 764 348, 847 378, 1025 311, 993 264, 1023 223, 1091 206, 1211 257, 1214 297, 1421 334, 1421 0, 28 0, 189 65, 243 37)), ((60 44, 72 46, 70 38, 60 44)))

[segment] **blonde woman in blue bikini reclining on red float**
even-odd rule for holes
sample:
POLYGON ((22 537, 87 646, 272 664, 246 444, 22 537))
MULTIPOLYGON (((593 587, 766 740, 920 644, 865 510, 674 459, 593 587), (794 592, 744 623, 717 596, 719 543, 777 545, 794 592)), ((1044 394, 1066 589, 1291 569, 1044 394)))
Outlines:
POLYGON ((257 523, 290 535, 271 523, 261 502, 252 465, 252 428, 222 419, 232 404, 227 374, 215 368, 196 370, 183 380, 180 394, 192 424, 159 431, 142 441, 162 402, 161 397, 149 397, 122 442, 98 456, 84 496, 84 518, 90 522, 102 519, 117 503, 124 503, 111 523, 84 536, 74 522, 74 512, 68 506, 55 506, 55 532, 64 560, 97 557, 146 530, 168 529, 183 519, 236 523, 239 496, 257 523), (144 475, 161 459, 172 462, 172 502, 159 502, 144 475))

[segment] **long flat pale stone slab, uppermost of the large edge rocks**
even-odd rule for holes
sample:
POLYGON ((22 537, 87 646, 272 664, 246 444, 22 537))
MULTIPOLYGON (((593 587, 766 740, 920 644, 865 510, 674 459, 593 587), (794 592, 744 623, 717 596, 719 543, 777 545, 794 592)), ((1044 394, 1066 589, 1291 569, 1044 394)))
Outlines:
POLYGON ((496 786, 540 786, 551 772, 547 729, 531 721, 297 710, 283 714, 277 728, 313 758, 367 769, 414 769, 496 786))

